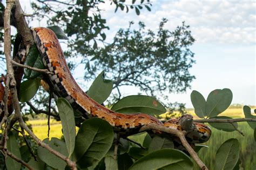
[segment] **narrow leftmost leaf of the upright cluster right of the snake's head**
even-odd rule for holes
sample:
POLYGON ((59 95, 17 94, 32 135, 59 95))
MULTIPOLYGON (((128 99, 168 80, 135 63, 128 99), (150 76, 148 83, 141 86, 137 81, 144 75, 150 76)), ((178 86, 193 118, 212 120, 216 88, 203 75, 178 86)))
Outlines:
POLYGON ((194 107, 194 112, 199 118, 204 118, 206 101, 204 96, 196 90, 193 90, 190 94, 190 99, 194 107))

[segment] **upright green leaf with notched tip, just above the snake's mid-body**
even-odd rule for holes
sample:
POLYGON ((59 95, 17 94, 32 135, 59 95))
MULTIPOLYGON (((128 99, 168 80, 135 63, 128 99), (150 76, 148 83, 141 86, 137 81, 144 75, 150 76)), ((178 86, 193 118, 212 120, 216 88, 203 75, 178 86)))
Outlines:
POLYGON ((113 89, 113 82, 104 77, 104 71, 102 71, 93 81, 87 92, 87 95, 98 103, 103 103, 110 96, 113 89))

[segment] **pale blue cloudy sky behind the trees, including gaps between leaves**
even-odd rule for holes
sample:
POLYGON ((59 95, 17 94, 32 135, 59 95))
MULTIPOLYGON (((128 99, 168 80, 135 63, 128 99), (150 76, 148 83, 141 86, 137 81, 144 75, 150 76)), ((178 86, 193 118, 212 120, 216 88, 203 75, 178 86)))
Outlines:
MULTIPOLYGON (((29 1, 21 1, 30 13, 29 1)), ((129 4, 129 1, 127 1, 129 4)), ((183 21, 191 26, 196 42, 191 46, 196 64, 190 70, 196 76, 183 94, 170 94, 170 101, 186 103, 192 107, 190 93, 197 90, 207 98, 214 89, 231 89, 232 103, 256 105, 255 90, 255 1, 152 1, 152 11, 142 10, 139 16, 135 11, 126 13, 118 10, 109 1, 100 5, 102 17, 110 30, 105 31, 107 40, 112 41, 120 28, 127 28, 129 21, 142 21, 147 28, 156 30, 161 18, 169 19, 167 29, 173 30, 183 21)), ((46 26, 43 21, 30 23, 31 26, 46 26)), ((83 67, 75 70, 79 84, 83 77, 83 67)), ((137 94, 138 89, 124 87, 125 95, 137 94)))

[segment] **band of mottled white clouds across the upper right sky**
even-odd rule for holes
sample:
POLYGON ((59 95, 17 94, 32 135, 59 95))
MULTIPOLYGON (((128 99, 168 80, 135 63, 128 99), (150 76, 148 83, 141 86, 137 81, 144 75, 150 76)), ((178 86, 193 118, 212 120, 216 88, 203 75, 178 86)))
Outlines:
POLYGON ((114 5, 105 3, 103 16, 111 32, 127 28, 129 21, 143 21, 152 30, 161 18, 169 19, 166 28, 173 30, 182 21, 191 26, 197 43, 255 43, 256 2, 254 1, 154 1, 152 12, 114 13, 114 5), (111 7, 112 6, 112 7, 111 7))

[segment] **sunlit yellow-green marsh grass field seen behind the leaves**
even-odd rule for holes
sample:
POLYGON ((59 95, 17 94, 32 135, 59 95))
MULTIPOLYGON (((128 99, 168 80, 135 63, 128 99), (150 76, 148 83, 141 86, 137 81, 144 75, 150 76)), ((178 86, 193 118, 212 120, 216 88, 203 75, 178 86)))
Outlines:
MULTIPOLYGON (((193 114, 195 118, 196 115, 194 112, 188 111, 193 114)), ((244 114, 242 112, 242 108, 229 108, 224 113, 220 115, 226 115, 232 118, 244 118, 244 114)), ((39 139, 47 138, 48 133, 48 125, 47 120, 31 120, 27 121, 27 123, 32 125, 33 132, 37 135, 39 139)), ((50 129, 50 138, 51 137, 62 137, 62 125, 60 122, 56 120, 51 120, 51 129, 50 129)), ((236 138, 240 142, 240 159, 242 162, 242 167, 244 169, 256 169, 256 142, 253 138, 253 130, 247 123, 239 123, 239 130, 244 132, 245 137, 239 134, 237 131, 235 132, 224 132, 212 129, 212 136, 208 142, 203 145, 209 146, 209 148, 203 148, 199 151, 199 157, 205 162, 208 168, 214 169, 215 167, 215 154, 223 144, 224 141, 230 138, 236 138)), ((194 169, 198 169, 197 166, 194 166, 194 169)))

